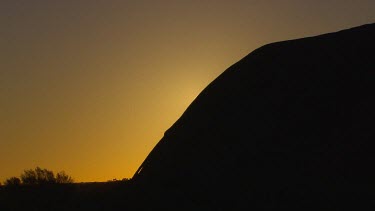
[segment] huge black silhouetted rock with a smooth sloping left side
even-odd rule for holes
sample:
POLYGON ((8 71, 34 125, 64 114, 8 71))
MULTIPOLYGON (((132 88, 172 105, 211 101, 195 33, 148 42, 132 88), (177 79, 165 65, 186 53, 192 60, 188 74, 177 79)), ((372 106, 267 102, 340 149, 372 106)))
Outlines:
POLYGON ((133 177, 139 207, 375 203, 374 94, 375 24, 265 45, 165 133, 133 177))

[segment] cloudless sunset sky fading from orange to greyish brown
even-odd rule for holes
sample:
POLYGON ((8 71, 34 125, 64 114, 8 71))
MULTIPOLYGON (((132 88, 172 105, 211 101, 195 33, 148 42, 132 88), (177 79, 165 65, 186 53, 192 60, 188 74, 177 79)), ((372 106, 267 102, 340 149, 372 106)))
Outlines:
POLYGON ((0 0, 0 181, 131 178, 251 51, 373 22, 373 0, 0 0))

